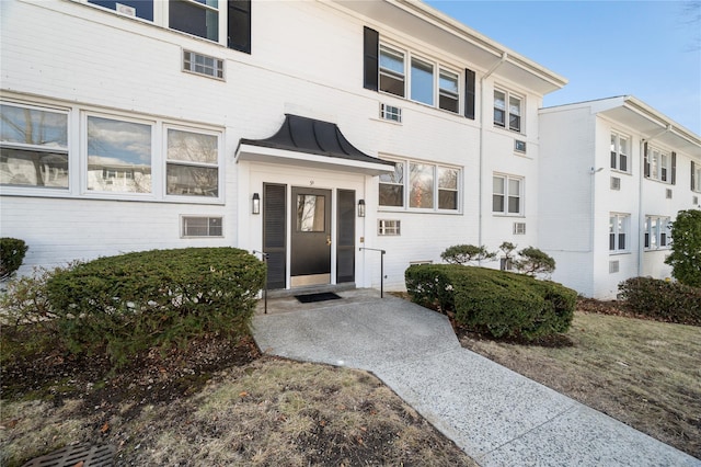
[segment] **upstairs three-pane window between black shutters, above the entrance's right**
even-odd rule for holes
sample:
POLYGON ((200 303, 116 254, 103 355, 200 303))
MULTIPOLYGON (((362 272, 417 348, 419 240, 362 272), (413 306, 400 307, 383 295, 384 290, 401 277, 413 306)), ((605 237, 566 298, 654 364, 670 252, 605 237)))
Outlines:
POLYGON ((432 60, 414 56, 411 52, 384 44, 379 44, 379 59, 375 61, 369 47, 366 44, 366 59, 369 64, 365 64, 365 67, 374 69, 371 65, 378 64, 379 83, 372 77, 366 76, 364 78, 366 88, 409 98, 444 111, 460 112, 459 73, 432 60))

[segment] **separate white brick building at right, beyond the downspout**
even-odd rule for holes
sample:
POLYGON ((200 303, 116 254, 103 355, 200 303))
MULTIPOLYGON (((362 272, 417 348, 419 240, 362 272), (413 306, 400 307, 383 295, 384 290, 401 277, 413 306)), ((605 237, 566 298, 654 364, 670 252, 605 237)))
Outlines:
POLYGON ((623 95, 540 112, 539 247, 553 280, 616 298, 629 277, 669 278, 669 224, 701 208, 701 138, 623 95))

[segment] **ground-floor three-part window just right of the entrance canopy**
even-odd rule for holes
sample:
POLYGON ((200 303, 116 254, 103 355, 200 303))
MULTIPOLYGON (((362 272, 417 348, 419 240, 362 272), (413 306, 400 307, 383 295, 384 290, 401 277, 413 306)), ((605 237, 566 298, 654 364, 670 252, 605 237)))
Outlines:
POLYGON ((414 161, 397 162, 393 173, 380 175, 379 204, 384 207, 457 212, 459 180, 458 168, 414 161), (404 194, 409 200, 404 198, 404 194))

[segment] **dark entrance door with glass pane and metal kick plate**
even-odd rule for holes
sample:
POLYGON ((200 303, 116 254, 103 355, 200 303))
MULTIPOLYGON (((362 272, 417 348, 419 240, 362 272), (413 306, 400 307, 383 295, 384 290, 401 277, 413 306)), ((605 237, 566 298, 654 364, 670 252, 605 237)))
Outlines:
POLYGON ((331 283, 331 191, 292 186, 290 283, 331 283))

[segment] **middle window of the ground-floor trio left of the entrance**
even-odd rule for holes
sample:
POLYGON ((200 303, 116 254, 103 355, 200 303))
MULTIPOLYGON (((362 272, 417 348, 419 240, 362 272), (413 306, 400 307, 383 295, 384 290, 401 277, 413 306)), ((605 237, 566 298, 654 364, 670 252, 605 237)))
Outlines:
POLYGON ((88 116, 89 191, 151 193, 150 124, 88 116))

